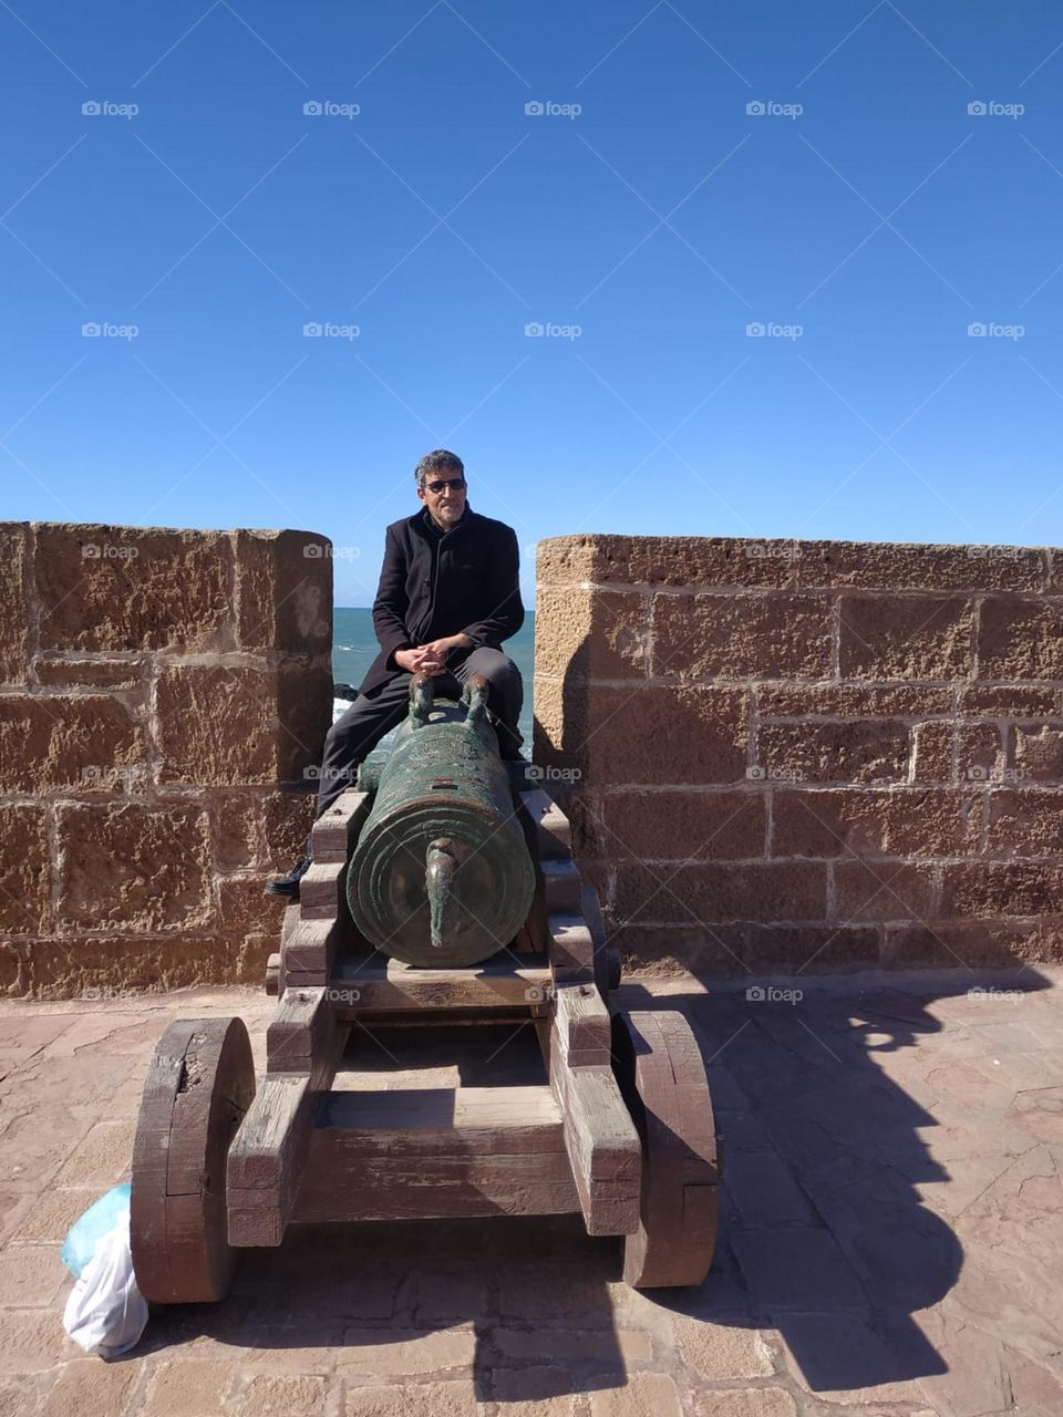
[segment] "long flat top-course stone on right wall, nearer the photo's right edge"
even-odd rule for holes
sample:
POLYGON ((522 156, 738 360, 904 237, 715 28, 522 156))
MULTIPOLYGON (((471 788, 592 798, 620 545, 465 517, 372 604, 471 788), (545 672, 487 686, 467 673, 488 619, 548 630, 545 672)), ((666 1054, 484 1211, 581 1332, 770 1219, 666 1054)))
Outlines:
POLYGON ((1045 551, 1037 547, 893 541, 799 541, 798 547, 798 584, 802 587, 924 591, 933 585, 943 591, 1037 591, 1047 575, 1045 551), (1003 551, 1008 554, 1001 554, 1003 551))

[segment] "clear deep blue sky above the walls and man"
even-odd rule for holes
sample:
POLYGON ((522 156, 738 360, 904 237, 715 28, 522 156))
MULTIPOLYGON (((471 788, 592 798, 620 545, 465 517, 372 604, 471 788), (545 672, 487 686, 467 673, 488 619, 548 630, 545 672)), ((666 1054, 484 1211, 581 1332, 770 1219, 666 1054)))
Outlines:
POLYGON ((0 34, 6 519, 312 529, 364 605, 444 445, 529 588, 574 531, 1063 544, 1049 0, 0 34))

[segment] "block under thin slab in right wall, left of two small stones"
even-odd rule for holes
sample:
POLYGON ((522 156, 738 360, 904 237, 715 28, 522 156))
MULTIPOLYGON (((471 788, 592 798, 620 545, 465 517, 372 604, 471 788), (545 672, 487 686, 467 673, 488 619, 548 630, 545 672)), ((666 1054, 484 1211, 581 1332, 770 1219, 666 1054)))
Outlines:
POLYGON ((765 723, 757 730, 757 771, 777 782, 903 782, 909 728, 870 723, 765 723))

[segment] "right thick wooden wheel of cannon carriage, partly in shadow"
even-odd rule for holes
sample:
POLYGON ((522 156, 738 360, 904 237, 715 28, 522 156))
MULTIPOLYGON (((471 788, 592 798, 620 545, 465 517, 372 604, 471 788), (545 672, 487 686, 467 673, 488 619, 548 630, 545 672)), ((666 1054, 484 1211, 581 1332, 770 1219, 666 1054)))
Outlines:
POLYGON ((697 1043, 680 1013, 622 1013, 612 1056, 642 1138, 642 1214, 624 1241, 624 1278, 641 1289, 700 1284, 713 1263, 720 1170, 697 1043))

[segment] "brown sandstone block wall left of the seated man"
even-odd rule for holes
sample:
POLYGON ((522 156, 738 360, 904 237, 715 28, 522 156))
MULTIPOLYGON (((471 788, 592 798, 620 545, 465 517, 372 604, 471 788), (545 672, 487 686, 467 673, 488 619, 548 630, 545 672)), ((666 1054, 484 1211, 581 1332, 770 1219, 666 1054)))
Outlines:
POLYGON ((329 553, 0 523, 0 992, 262 979, 332 717, 329 553))

